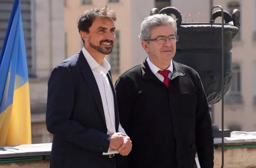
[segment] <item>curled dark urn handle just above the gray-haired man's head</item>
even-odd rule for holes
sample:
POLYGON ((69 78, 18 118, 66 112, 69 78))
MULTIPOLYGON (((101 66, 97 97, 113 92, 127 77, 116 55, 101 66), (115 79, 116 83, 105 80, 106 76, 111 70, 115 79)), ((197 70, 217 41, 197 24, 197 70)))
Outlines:
POLYGON ((167 14, 167 15, 174 14, 175 17, 176 17, 177 26, 179 26, 182 22, 181 12, 178 9, 174 8, 174 7, 165 7, 163 9, 161 9, 160 11, 157 8, 153 8, 150 11, 150 16, 153 15, 153 14, 157 14, 157 13, 167 14))

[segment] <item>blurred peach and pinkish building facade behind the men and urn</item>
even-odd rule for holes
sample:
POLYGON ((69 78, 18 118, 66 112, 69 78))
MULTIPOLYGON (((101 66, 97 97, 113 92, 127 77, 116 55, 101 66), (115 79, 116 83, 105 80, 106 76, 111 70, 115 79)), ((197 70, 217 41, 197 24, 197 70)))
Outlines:
MULTIPOLYGON (((210 9, 214 5, 221 5, 229 13, 239 9, 241 29, 233 40, 231 50, 233 78, 225 95, 224 128, 256 130, 256 0, 243 0, 243 3, 242 0, 66 0, 66 56, 80 51, 83 45, 76 28, 77 18, 84 10, 100 3, 108 4, 117 12, 116 44, 113 52, 107 56, 114 80, 144 61, 147 54, 141 47, 138 35, 140 23, 152 8, 160 10, 173 6, 180 10, 182 23, 192 20, 209 23, 210 9), (185 14, 190 16, 185 18, 185 14)), ((221 23, 221 19, 216 19, 216 22, 221 23)), ((214 104, 212 108, 213 123, 221 126, 221 102, 214 104)))

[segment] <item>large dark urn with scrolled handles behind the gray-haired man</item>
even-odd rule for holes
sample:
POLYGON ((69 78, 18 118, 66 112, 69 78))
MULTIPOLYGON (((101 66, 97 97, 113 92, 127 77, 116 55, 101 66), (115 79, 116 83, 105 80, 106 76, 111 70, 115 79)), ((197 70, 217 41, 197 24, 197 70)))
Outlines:
MULTIPOLYGON (((181 23, 181 13, 174 7, 166 7, 160 11, 153 8, 150 11, 150 15, 156 13, 175 15, 179 41, 173 60, 188 65, 199 73, 209 104, 219 102, 221 100, 221 24, 214 23, 214 20, 221 17, 221 11, 212 13, 213 20, 210 20, 210 23, 181 23)), ((232 39, 240 28, 239 10, 235 9, 232 15, 224 11, 224 20, 224 93, 226 93, 231 80, 232 39)))

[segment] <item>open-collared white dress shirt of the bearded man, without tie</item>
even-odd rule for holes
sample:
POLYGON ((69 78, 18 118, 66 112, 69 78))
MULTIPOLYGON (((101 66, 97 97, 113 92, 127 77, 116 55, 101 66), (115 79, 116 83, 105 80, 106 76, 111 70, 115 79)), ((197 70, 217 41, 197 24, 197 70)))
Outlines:
MULTIPOLYGON (((82 52, 92 70, 92 73, 95 77, 100 91, 101 101, 108 129, 107 134, 116 133, 114 97, 111 89, 111 83, 109 82, 107 76, 108 71, 110 70, 110 64, 107 62, 106 59, 104 59, 101 65, 99 65, 98 62, 93 59, 91 54, 84 47, 82 49, 82 52)), ((119 127, 121 127, 120 124, 119 127)), ((117 150, 109 148, 108 153, 103 153, 103 155, 109 155, 114 153, 119 152, 117 150)))

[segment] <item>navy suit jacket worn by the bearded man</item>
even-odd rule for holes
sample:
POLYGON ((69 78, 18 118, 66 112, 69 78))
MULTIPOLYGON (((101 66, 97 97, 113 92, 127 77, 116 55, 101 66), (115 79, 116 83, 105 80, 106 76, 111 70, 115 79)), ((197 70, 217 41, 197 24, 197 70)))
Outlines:
MULTIPOLYGON (((108 77, 112 84, 110 73, 108 77)), ((118 132, 114 87, 112 91, 118 132)), ((114 167, 102 156, 110 137, 99 88, 82 51, 55 67, 49 78, 46 125, 53 134, 51 168, 114 167)))

